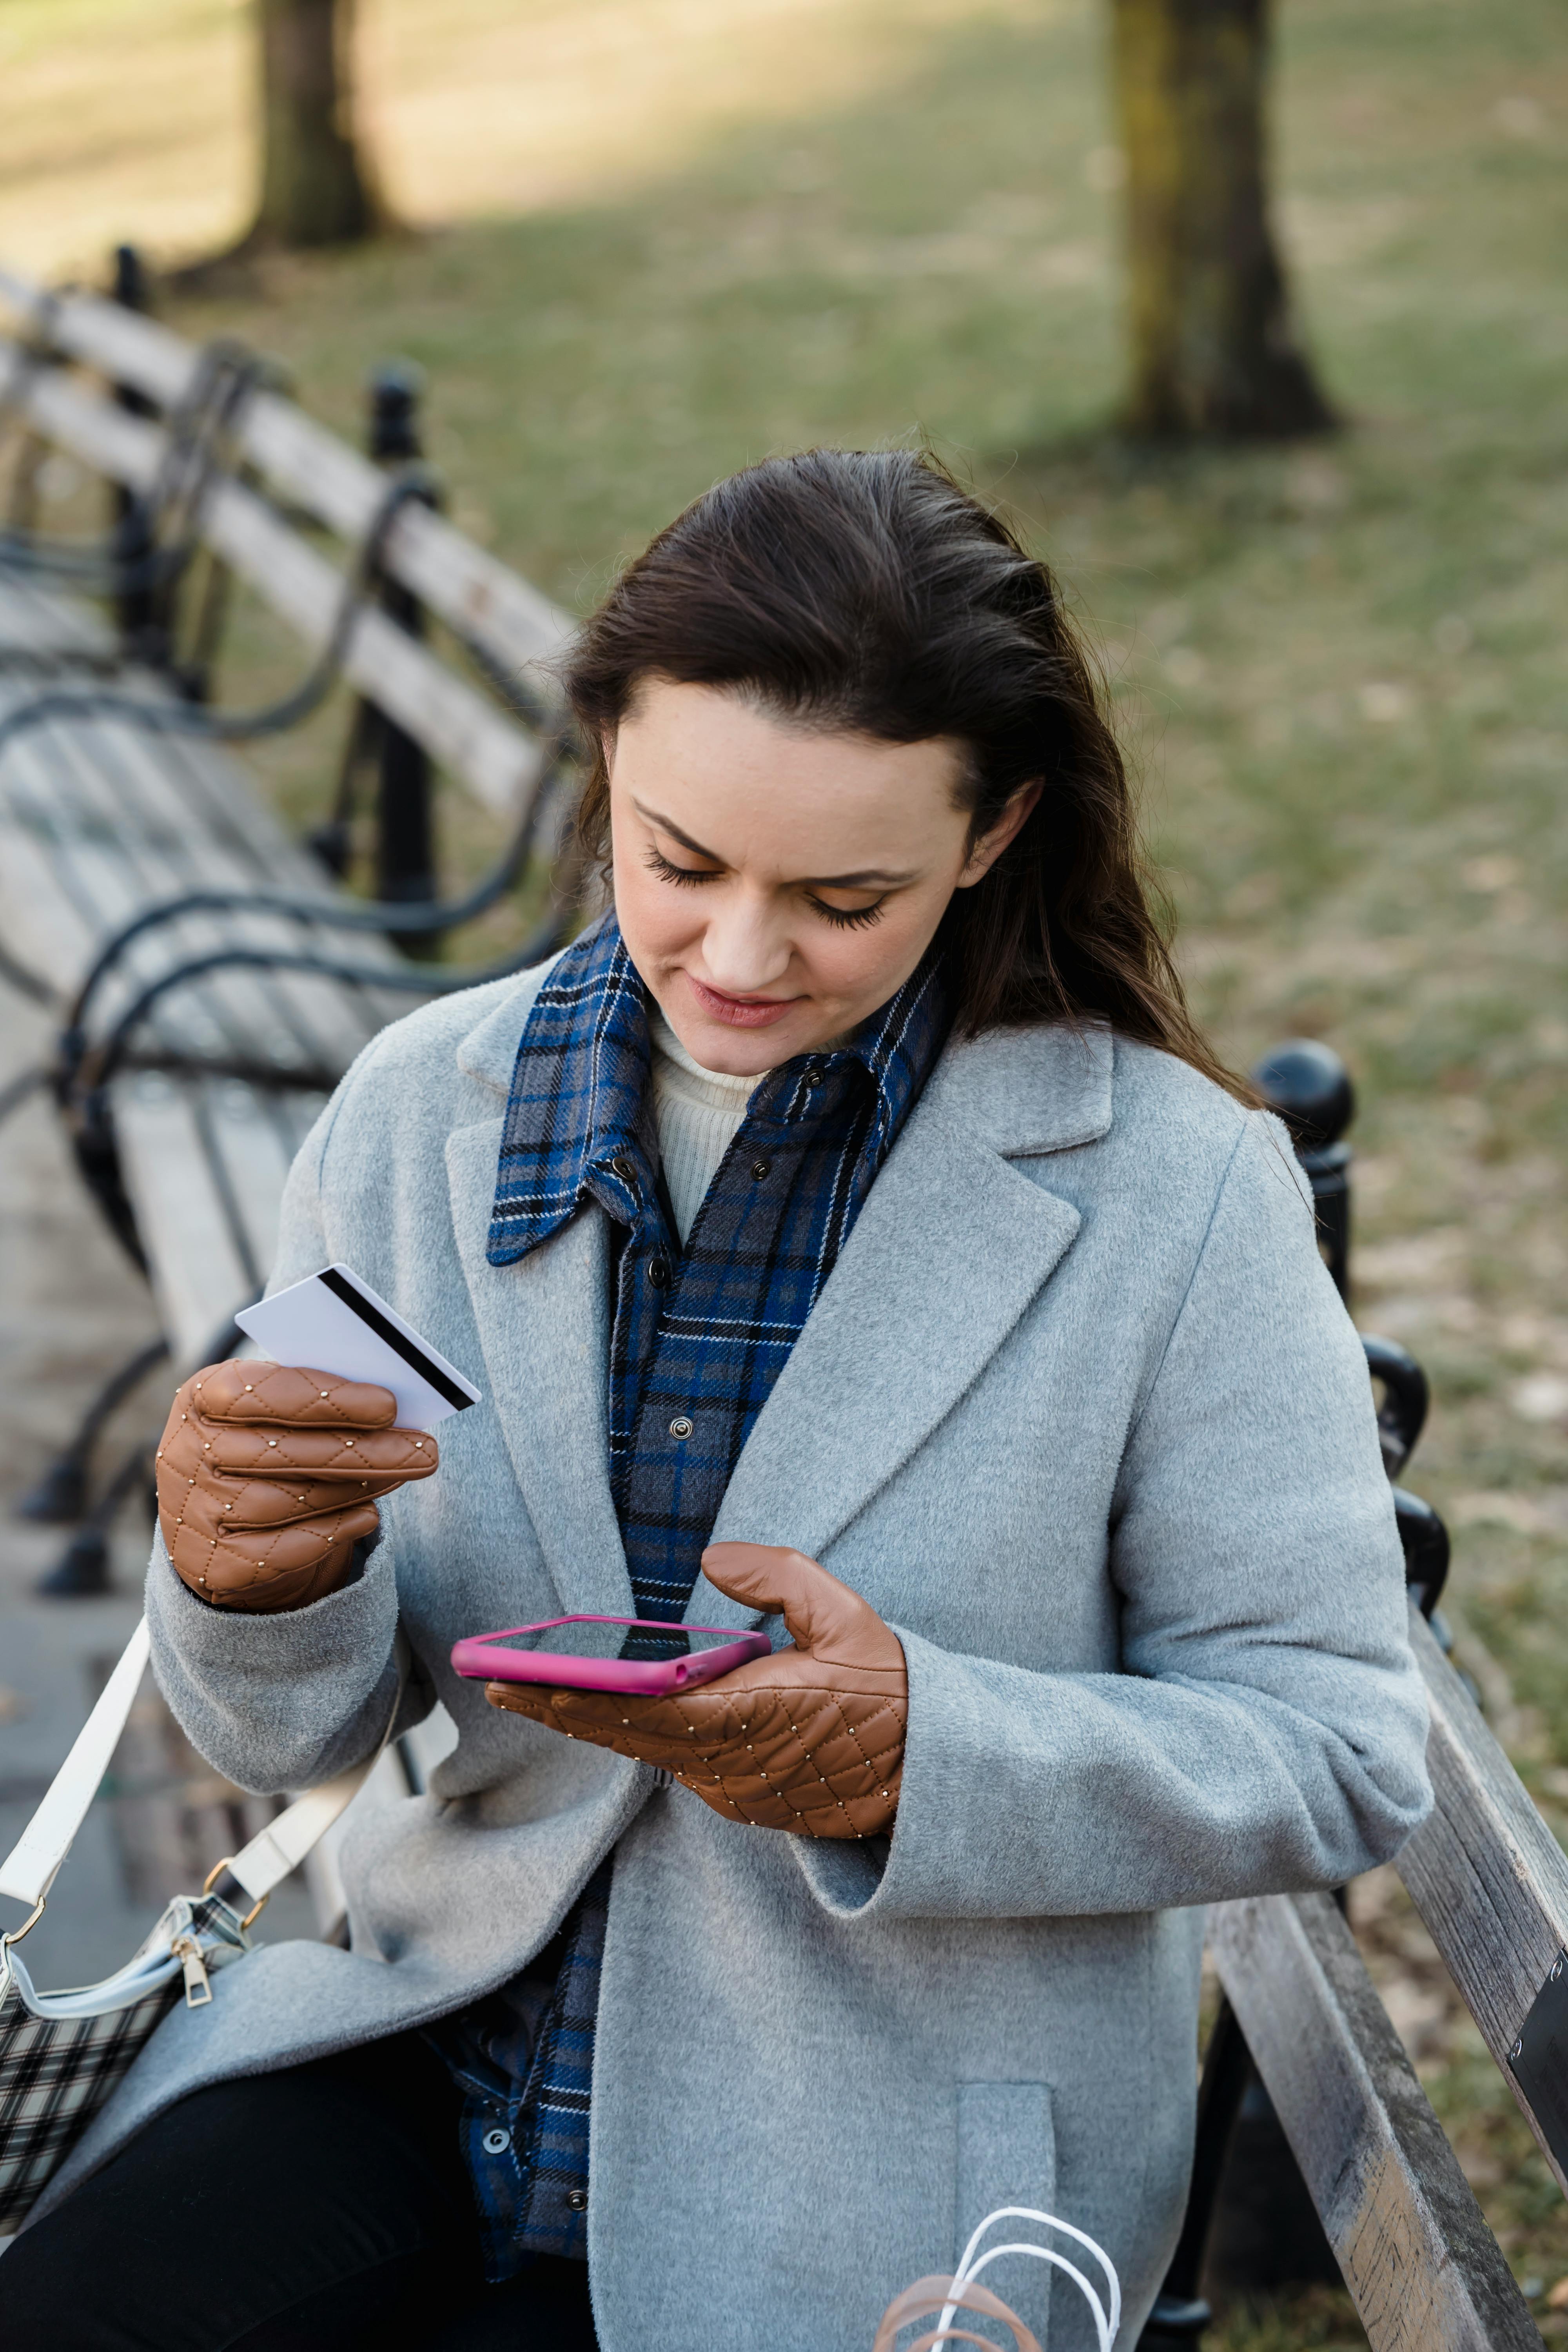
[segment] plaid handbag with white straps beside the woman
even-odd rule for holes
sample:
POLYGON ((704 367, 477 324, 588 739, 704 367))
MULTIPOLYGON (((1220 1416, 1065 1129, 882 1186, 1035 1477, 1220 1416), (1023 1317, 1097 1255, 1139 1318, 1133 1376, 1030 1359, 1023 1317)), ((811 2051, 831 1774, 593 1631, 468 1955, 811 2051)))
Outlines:
POLYGON ((303 1863, 374 1771, 407 1682, 400 1637, 397 1698, 376 1755, 310 1790, 249 1846, 216 1863, 200 1896, 176 1896, 118 1976, 78 1992, 38 1992, 16 1945, 42 1919, 146 1661, 143 1618, 45 1802, 0 1863, 0 1893, 31 1905, 31 1917, 0 1936, 0 2234, 21 2227, 33 2199, 179 2002, 181 1985, 188 2006, 205 2009, 212 1971, 252 1950, 249 1929, 273 1886, 303 1863))

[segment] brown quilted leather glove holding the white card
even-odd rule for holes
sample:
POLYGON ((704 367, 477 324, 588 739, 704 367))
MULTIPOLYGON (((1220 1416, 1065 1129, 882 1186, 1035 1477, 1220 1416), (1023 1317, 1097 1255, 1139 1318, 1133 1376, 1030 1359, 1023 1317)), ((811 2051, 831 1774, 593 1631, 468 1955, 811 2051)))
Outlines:
POLYGON ((423 1430, 393 1428, 371 1381, 292 1364, 207 1364, 158 1446, 158 1524, 181 1581, 219 1609, 303 1609, 376 1534, 376 1496, 430 1477, 423 1430))

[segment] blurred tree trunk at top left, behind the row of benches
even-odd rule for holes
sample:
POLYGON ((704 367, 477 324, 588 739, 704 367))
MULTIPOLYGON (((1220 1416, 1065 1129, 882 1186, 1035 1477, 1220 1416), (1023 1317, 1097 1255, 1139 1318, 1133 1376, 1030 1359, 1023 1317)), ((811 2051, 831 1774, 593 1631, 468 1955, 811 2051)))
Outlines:
POLYGON ((247 245, 353 245, 381 223, 353 129, 353 0, 256 0, 261 202, 247 245))

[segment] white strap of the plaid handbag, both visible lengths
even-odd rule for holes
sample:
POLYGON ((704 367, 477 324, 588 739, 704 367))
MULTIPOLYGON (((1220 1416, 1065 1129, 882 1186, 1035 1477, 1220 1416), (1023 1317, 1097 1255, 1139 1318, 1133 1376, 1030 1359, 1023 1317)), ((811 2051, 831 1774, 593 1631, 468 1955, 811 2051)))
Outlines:
MULTIPOLYGON (((31 1903, 33 1917, 42 1910, 59 1865, 71 1853, 71 1842, 82 1828, 87 1806, 96 1797, 103 1773, 108 1771, 108 1759, 113 1757, 132 1705, 136 1703, 136 1689, 141 1686, 141 1675, 148 1663, 148 1621, 141 1618, 136 1632, 125 1644, 118 1668, 103 1684, 103 1696, 78 1731, 71 1755, 54 1773, 45 1802, 33 1813, 5 1863, 0 1863, 0 1893, 14 1896, 19 1903, 31 1903)), ((299 1797, 284 1813, 277 1816, 277 1820, 270 1820, 259 1837, 252 1837, 249 1846, 235 1853, 228 1863, 219 1865, 219 1870, 228 1867, 254 1903, 266 1903, 273 1889, 303 1863, 317 1837, 324 1837, 339 1813, 343 1813, 360 1795, 381 1762, 381 1750, 393 1736, 407 1679, 409 1644, 400 1632, 397 1696, 393 1698, 393 1710, 386 1719, 386 1731, 376 1743, 376 1752, 367 1757, 364 1764, 355 1764, 353 1771, 343 1771, 336 1780, 324 1780, 322 1788, 313 1788, 306 1797, 299 1797)), ((31 1924, 33 1922, 28 1919, 28 1926, 31 1924)), ((5 1940, 14 1943, 24 1933, 26 1929, 16 1929, 16 1933, 5 1940)))

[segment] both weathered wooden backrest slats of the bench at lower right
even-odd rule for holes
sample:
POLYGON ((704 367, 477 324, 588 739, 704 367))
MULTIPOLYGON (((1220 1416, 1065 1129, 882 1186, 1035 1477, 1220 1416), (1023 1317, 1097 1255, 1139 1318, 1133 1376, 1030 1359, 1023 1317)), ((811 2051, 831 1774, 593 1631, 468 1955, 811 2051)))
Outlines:
MULTIPOLYGON (((1568 1860, 1420 1609, 1410 1639, 1436 1802, 1394 1867, 1563 2183, 1568 1860)), ((1540 2345, 1333 1898, 1215 1905, 1211 1945, 1375 2352, 1540 2345)))

